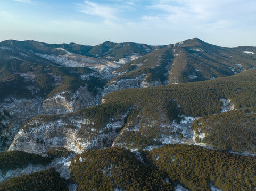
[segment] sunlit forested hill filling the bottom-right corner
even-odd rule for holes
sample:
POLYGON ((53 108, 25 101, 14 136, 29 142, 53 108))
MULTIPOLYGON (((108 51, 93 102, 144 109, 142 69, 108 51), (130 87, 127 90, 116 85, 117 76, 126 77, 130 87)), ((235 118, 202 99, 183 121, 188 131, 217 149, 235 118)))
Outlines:
POLYGON ((168 174, 172 183, 189 190, 255 190, 255 157, 203 149, 192 145, 167 145, 146 152, 151 164, 168 174))

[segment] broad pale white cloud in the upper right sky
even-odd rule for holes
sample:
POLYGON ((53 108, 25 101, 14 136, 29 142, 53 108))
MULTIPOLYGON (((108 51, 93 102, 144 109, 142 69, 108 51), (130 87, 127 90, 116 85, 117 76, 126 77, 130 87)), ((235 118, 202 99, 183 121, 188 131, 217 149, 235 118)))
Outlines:
POLYGON ((147 8, 158 12, 157 16, 163 22, 187 24, 189 28, 241 28, 256 20, 255 0, 159 0, 153 1, 147 8))

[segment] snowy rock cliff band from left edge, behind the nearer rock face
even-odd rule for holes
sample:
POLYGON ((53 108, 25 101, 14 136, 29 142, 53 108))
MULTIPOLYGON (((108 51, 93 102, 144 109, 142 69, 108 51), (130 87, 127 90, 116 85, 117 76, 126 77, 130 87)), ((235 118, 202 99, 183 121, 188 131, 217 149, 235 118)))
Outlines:
POLYGON ((0 151, 4 152, 8 149, 21 126, 32 117, 40 114, 67 114, 98 105, 100 102, 100 94, 93 95, 86 86, 80 87, 74 94, 71 94, 71 98, 66 98, 65 92, 62 92, 45 100, 43 98, 5 99, 0 103, 2 116, 0 120, 0 151))

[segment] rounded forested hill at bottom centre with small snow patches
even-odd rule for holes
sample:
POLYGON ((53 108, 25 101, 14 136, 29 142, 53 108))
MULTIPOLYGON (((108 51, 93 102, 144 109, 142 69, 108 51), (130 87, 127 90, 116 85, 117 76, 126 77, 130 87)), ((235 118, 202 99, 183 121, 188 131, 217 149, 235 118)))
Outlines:
POLYGON ((172 190, 164 172, 145 166, 126 149, 82 153, 72 159, 70 173, 78 190, 172 190))

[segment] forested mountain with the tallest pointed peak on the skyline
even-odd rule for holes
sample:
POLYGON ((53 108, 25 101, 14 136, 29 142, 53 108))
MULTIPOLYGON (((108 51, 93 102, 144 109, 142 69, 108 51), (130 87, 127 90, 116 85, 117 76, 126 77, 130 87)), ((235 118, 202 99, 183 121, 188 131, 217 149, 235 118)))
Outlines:
POLYGON ((230 76, 256 67, 255 55, 245 51, 253 49, 255 47, 219 47, 194 38, 155 50, 121 66, 116 70, 121 75, 113 80, 145 75, 144 81, 151 84, 152 81, 180 83, 230 76))

